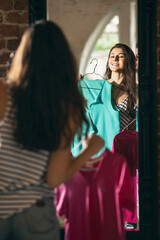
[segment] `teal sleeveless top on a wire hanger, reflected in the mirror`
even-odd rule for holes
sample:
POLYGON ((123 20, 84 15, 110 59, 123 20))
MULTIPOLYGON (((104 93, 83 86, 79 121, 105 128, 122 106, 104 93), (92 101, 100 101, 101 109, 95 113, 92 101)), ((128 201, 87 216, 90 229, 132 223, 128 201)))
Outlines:
MULTIPOLYGON (((113 103, 112 84, 106 79, 88 80, 83 78, 79 83, 80 91, 86 99, 86 116, 90 122, 88 135, 97 132, 105 141, 104 148, 96 155, 100 155, 105 148, 112 150, 113 138, 120 132, 119 109, 113 103)), ((83 125, 85 135, 86 126, 83 125)), ((76 157, 82 146, 78 145, 79 139, 76 136, 72 144, 72 154, 76 157), (76 145, 78 147, 76 147, 76 145)))

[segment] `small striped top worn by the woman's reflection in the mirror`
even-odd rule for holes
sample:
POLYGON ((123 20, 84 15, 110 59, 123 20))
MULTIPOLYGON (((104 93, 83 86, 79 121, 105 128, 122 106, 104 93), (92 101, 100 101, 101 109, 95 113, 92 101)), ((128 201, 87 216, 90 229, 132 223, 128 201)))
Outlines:
POLYGON ((121 103, 117 104, 117 108, 120 110, 120 129, 123 130, 130 123, 131 117, 127 111, 128 97, 121 103))

